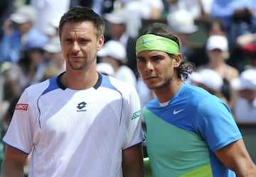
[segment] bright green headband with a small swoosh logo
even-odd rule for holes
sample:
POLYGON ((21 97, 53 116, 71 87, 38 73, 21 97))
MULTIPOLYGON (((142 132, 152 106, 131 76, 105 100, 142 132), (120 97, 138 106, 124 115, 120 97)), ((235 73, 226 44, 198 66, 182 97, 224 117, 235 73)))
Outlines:
POLYGON ((136 55, 145 50, 159 50, 172 55, 178 54, 178 44, 169 38, 160 35, 146 34, 137 39, 136 55))

